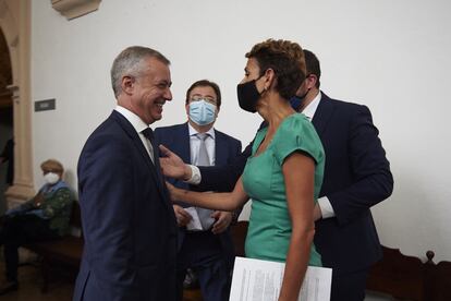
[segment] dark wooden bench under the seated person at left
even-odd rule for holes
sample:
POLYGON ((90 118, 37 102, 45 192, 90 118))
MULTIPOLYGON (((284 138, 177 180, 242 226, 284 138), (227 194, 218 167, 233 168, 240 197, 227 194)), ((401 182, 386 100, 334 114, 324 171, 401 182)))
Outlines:
POLYGON ((40 269, 42 275, 41 292, 48 291, 50 273, 56 267, 78 272, 83 253, 82 218, 78 202, 72 206, 72 215, 69 221, 71 233, 53 241, 36 242, 24 245, 40 257, 40 269), (77 232, 77 233, 76 233, 77 232), (77 236, 80 234, 80 236, 77 236))

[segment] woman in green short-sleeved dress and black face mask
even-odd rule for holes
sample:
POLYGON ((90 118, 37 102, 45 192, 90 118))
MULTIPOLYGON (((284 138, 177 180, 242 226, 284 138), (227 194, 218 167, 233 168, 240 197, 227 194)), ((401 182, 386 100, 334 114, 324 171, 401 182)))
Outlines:
POLYGON ((222 210, 233 210, 251 198, 246 256, 284 262, 279 300, 297 300, 307 265, 321 265, 313 244, 313 214, 325 164, 314 127, 289 101, 305 80, 304 53, 295 43, 268 39, 255 45, 246 58, 239 104, 257 111, 266 127, 255 136, 242 177, 230 193, 170 186, 171 197, 222 210))

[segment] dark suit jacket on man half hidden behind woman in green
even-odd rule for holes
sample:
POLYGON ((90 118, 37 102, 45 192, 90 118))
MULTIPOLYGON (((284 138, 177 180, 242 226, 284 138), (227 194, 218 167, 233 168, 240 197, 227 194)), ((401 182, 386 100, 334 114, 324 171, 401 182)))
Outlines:
MULTIPOLYGON (((313 124, 326 153, 319 197, 327 196, 334 218, 316 222, 315 245, 322 264, 334 273, 370 266, 381 256, 380 243, 369 208, 391 195, 393 178, 373 124, 369 109, 322 94, 313 124)), ((224 168, 200 168, 203 189, 228 189, 243 172, 252 143, 224 168)))

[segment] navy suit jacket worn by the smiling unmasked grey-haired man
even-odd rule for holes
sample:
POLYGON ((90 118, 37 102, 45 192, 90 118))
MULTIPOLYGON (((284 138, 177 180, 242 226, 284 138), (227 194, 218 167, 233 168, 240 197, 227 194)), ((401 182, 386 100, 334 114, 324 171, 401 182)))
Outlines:
POLYGON ((74 300, 174 300, 176 221, 160 172, 119 112, 78 160, 85 239, 74 300))

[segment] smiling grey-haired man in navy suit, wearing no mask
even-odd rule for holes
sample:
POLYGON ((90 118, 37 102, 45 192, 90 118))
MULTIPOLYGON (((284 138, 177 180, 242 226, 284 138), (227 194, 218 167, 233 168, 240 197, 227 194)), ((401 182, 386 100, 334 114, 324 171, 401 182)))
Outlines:
POLYGON ((118 106, 78 160, 85 245, 74 300, 175 300, 176 221, 148 127, 172 99, 169 63, 138 46, 114 59, 118 106))

